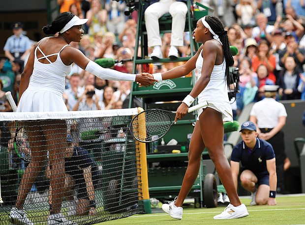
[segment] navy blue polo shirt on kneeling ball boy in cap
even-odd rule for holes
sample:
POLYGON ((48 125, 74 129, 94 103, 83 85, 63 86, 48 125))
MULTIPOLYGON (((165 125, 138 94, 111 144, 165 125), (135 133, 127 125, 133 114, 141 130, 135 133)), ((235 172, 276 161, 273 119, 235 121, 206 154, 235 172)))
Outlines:
POLYGON ((256 138, 256 144, 253 150, 249 149, 244 141, 239 142, 232 151, 231 160, 241 162, 242 171, 251 170, 254 174, 268 172, 266 160, 275 158, 272 145, 259 138, 256 138))

